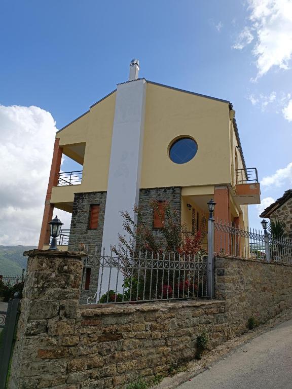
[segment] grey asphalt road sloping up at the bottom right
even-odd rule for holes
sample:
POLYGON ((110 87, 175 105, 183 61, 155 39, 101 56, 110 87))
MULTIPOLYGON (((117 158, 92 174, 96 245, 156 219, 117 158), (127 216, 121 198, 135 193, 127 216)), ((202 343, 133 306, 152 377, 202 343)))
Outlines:
POLYGON ((252 339, 179 389, 292 389, 292 320, 252 339))

